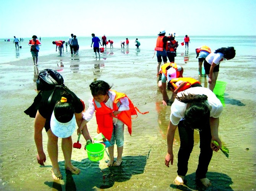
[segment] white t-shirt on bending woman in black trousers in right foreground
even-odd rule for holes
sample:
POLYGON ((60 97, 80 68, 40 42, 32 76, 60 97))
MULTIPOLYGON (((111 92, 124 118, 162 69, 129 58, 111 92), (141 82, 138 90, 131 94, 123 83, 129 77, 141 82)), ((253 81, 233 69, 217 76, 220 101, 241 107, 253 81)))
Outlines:
MULTIPOLYGON (((177 94, 177 96, 181 96, 181 93, 184 93, 187 95, 190 94, 196 94, 196 95, 206 95, 207 103, 209 106, 211 106, 211 112, 210 117, 218 118, 223 110, 223 106, 220 102, 220 100, 215 96, 215 94, 208 88, 204 87, 193 87, 189 88, 185 91, 182 91, 177 94)), ((180 120, 183 120, 184 114, 186 111, 187 103, 183 103, 181 101, 178 101, 177 99, 174 100, 172 106, 171 106, 171 114, 170 114, 170 121, 173 125, 178 125, 180 120)))

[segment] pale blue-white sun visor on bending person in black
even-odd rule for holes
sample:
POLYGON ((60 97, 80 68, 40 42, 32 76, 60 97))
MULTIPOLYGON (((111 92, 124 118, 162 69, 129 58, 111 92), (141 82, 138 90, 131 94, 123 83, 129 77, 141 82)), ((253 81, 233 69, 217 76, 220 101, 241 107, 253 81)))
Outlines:
POLYGON ((55 115, 54 111, 52 112, 52 117, 50 120, 50 127, 54 135, 60 137, 60 138, 67 138, 71 136, 76 129, 76 118, 75 114, 73 114, 73 117, 70 121, 66 123, 59 122, 55 115))

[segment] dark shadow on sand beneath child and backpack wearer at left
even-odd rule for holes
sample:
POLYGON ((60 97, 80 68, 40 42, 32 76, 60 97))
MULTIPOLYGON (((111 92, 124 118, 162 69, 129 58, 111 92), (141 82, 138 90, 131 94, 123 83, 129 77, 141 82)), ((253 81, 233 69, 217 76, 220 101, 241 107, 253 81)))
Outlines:
MULTIPOLYGON (((144 173, 147 158, 148 156, 124 156, 120 166, 102 170, 99 168, 99 161, 92 162, 88 158, 81 162, 72 161, 72 164, 81 170, 79 175, 61 170, 63 180, 47 181, 45 184, 58 191, 92 191, 97 188, 111 188, 115 182, 124 182, 130 180, 132 175, 144 173)), ((64 161, 59 162, 59 165, 60 169, 65 169, 64 161)))

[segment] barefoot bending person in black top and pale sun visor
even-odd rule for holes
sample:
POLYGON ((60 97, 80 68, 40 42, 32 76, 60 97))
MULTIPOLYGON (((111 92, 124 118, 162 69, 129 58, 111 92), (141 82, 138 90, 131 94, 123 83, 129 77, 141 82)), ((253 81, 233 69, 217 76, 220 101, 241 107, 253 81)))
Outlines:
MULTIPOLYGON (((42 99, 38 103, 34 122, 37 162, 44 166, 46 161, 42 136, 42 130, 45 128, 48 136, 47 150, 52 162, 53 179, 62 179, 58 164, 58 138, 62 138, 65 169, 73 174, 79 174, 80 170, 71 163, 71 135, 75 131, 76 124, 79 127, 83 120, 84 103, 66 87, 55 87, 53 90, 40 91, 39 93, 42 99)), ((84 130, 84 133, 87 133, 86 140, 91 139, 88 130, 86 130, 84 130)))

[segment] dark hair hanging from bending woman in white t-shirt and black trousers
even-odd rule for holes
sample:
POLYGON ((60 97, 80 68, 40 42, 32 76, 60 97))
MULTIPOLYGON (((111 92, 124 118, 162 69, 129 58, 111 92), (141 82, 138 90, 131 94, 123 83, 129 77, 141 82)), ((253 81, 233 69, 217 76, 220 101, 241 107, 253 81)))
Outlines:
POLYGON ((209 123, 210 118, 211 111, 209 104, 206 103, 208 97, 190 93, 188 95, 181 93, 181 95, 181 97, 177 96, 176 99, 190 104, 184 113, 184 125, 192 129, 202 130, 209 123))

